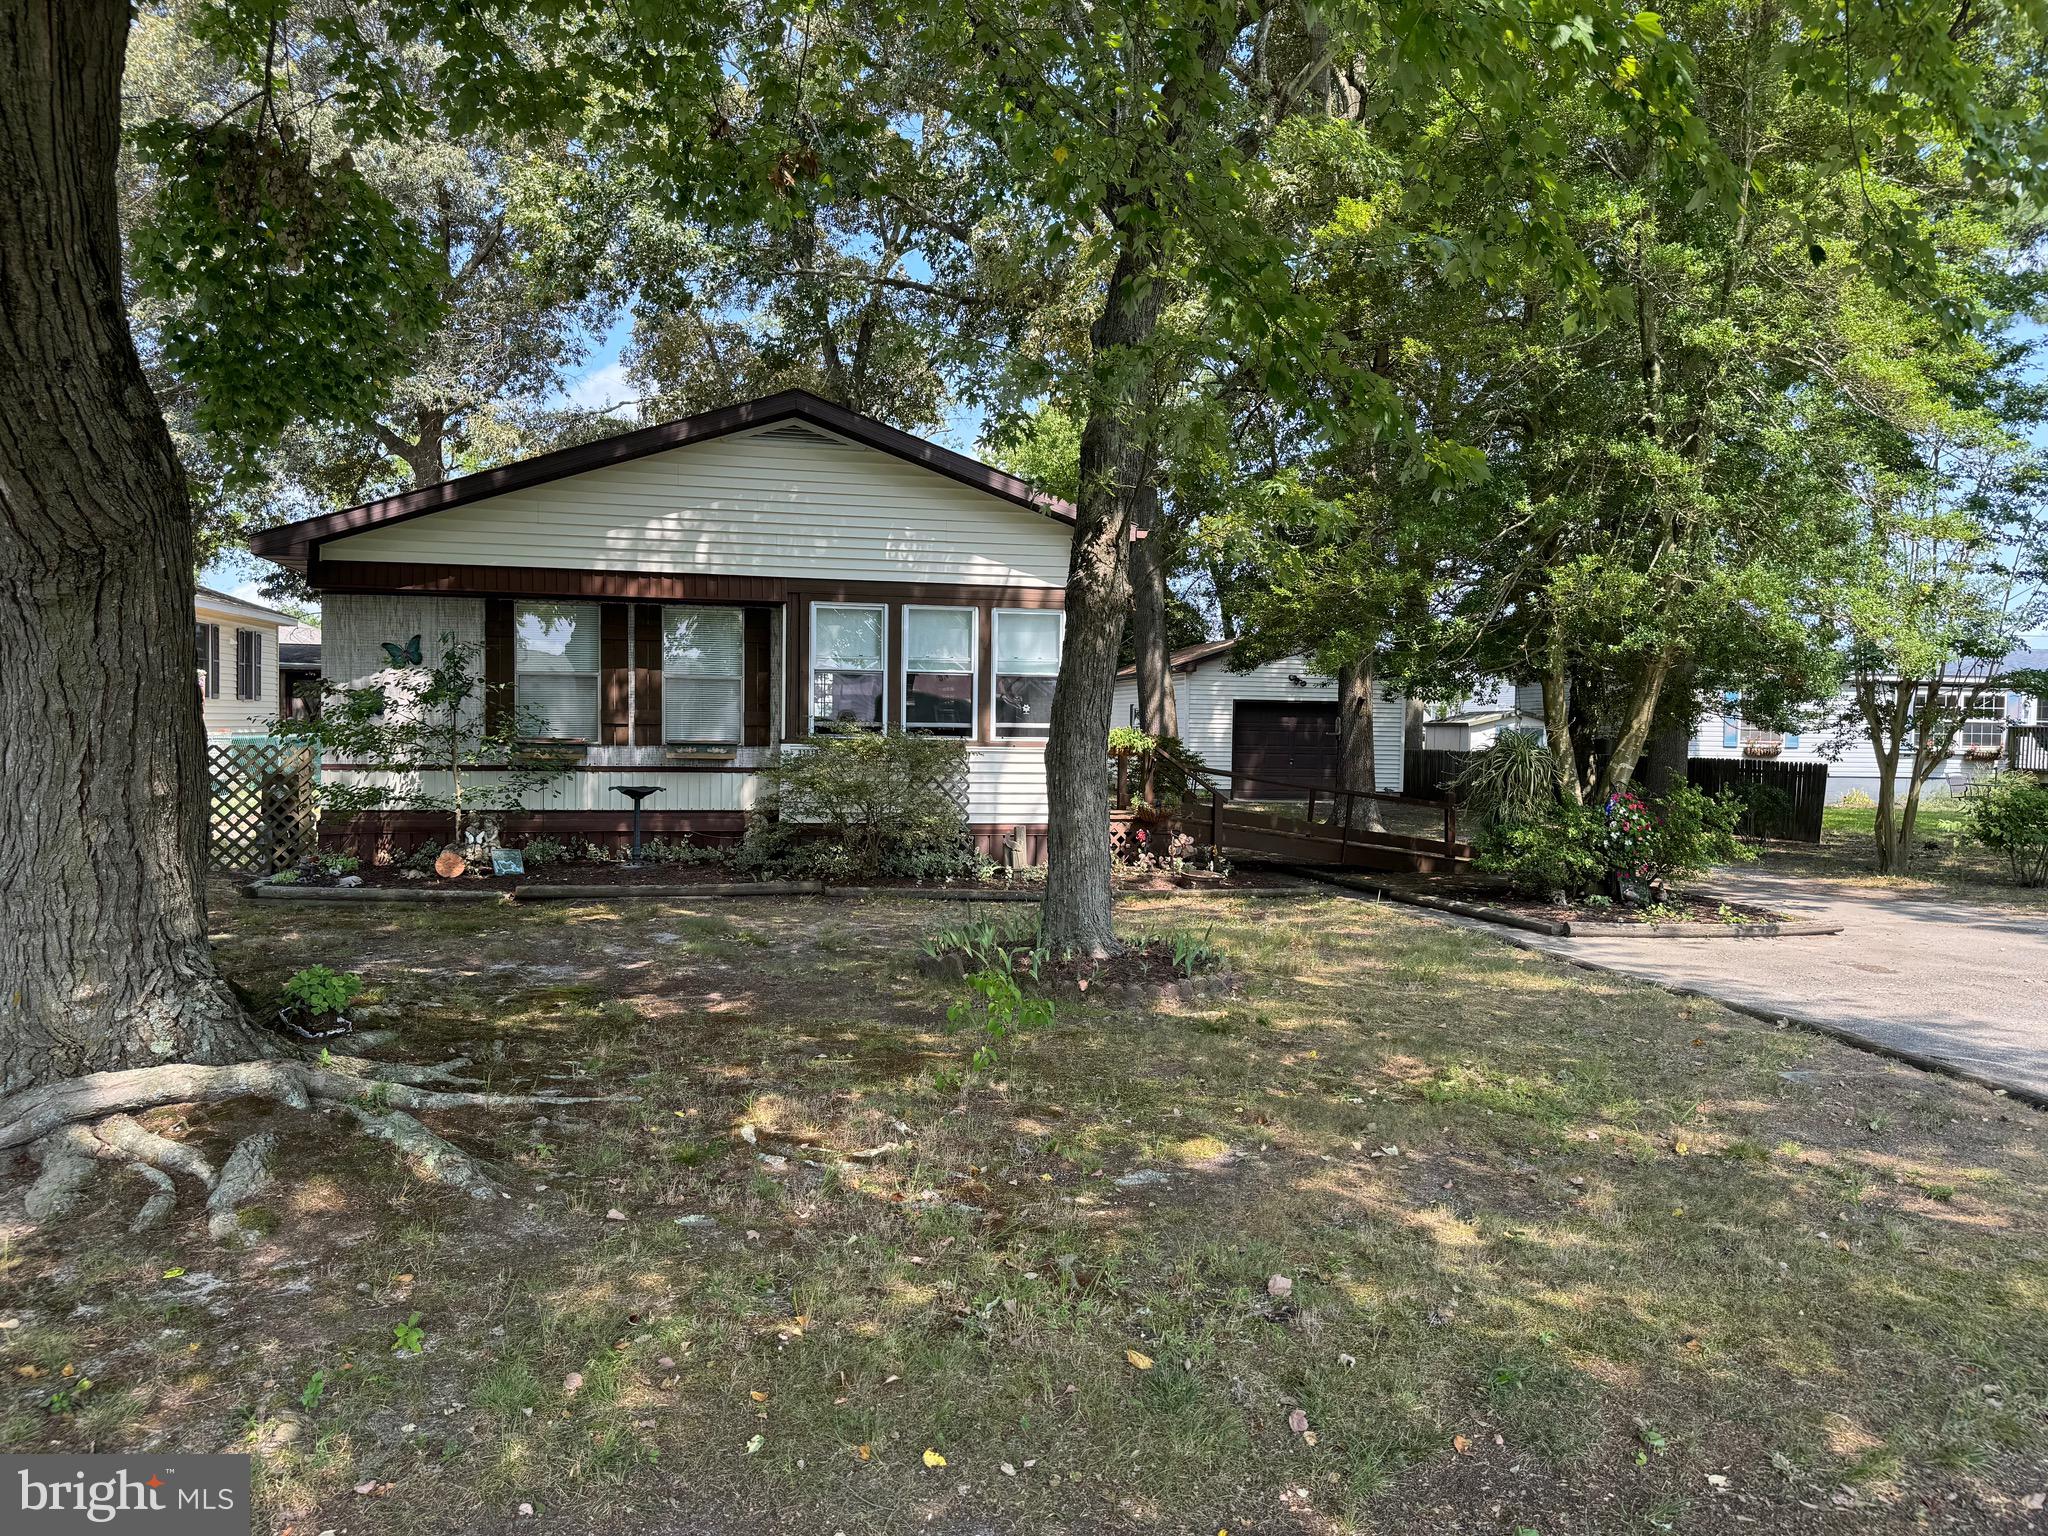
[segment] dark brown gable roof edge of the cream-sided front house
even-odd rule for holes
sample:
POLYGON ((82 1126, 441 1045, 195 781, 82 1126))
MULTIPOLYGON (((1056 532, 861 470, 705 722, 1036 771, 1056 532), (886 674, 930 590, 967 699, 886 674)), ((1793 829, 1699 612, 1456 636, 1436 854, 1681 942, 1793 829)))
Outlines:
POLYGON ((528 485, 545 485, 551 479, 582 475, 586 469, 645 459, 651 453, 666 453, 668 449, 682 449, 692 442, 711 442, 713 438, 758 426, 774 426, 776 422, 809 422, 850 442, 893 455, 936 475, 946 475, 977 492, 999 496, 1030 512, 1073 522, 1071 504, 1034 489, 1016 475, 985 465, 979 459, 969 459, 965 453, 954 453, 926 438, 911 436, 909 432, 899 432, 885 422, 877 422, 872 416, 856 416, 844 406, 834 406, 829 399, 821 399, 807 389, 784 389, 778 395, 743 399, 737 406, 721 406, 719 410, 684 416, 676 422, 643 426, 635 432, 600 438, 598 442, 578 442, 575 446, 543 453, 535 459, 498 465, 498 469, 444 479, 440 485, 422 485, 420 489, 383 496, 375 502, 342 508, 340 512, 285 522, 276 528, 250 535, 250 549, 264 559, 274 559, 279 565, 303 571, 313 549, 330 539, 342 539, 389 522, 406 522, 408 518, 424 518, 430 512, 444 512, 453 506, 469 506, 471 502, 526 489, 528 485))

